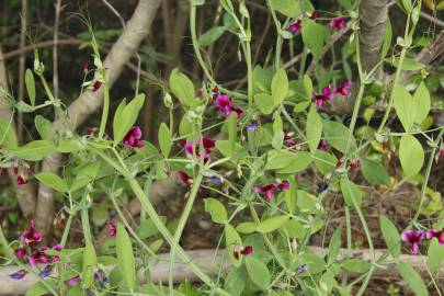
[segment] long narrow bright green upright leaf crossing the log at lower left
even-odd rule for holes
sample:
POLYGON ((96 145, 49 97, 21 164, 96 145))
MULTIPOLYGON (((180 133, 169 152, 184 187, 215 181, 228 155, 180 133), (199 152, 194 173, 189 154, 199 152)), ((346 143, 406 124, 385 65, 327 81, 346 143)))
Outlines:
POLYGON ((117 266, 122 273, 124 284, 133 291, 136 285, 136 264, 134 261, 132 241, 122 224, 117 225, 115 247, 117 253, 117 266))

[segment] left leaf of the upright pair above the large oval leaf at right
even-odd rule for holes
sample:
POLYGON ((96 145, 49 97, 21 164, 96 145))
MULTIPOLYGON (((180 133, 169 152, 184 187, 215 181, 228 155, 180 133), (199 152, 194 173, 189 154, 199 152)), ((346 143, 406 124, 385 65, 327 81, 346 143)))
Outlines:
POLYGON ((406 132, 410 132, 414 119, 417 118, 417 107, 414 105, 413 98, 401 84, 396 84, 394 87, 394 95, 396 114, 398 115, 403 129, 406 129, 406 132))

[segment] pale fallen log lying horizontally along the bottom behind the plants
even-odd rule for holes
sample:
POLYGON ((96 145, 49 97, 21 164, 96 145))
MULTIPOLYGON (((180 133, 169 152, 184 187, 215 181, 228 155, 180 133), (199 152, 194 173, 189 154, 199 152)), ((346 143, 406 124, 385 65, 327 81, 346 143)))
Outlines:
MULTIPOLYGON (((309 247, 309 250, 319 257, 323 257, 328 253, 328 249, 322 249, 320 247, 309 247)), ((376 258, 379 258, 385 250, 376 250, 376 258)), ((339 258, 346 257, 346 249, 341 249, 339 252, 339 258)), ((193 261, 203 269, 209 276, 217 276, 218 273, 227 271, 231 264, 227 258, 226 250, 193 250, 187 251, 187 254, 193 259, 193 261)), ((168 262, 169 253, 163 253, 158 255, 157 259, 152 258, 149 265, 149 276, 153 283, 168 283, 168 262)), ((364 250, 352 250, 351 258, 361 259, 364 261, 371 261, 372 253, 368 249, 364 250)), ((424 255, 410 255, 401 254, 400 261, 406 262, 411 265, 419 274, 422 276, 428 276, 428 270, 425 265, 426 257, 424 255)), ((375 277, 394 277, 399 276, 396 269, 395 260, 388 257, 385 264, 386 269, 377 266, 374 272, 375 277)), ((107 266, 107 271, 112 270, 114 266, 107 266)), ((26 292, 31 286, 33 286, 38 280, 36 275, 27 274, 22 280, 13 280, 9 275, 19 271, 19 266, 4 266, 0 269, 0 295, 21 295, 26 292)), ((440 276, 444 274, 444 264, 441 265, 440 276)), ((50 275, 57 277, 56 272, 50 275)), ((145 282, 145 275, 139 275, 140 282, 145 282)), ((192 272, 189 266, 178 261, 174 264, 174 282, 180 283, 183 280, 190 280, 192 282, 197 282, 198 277, 192 272)))

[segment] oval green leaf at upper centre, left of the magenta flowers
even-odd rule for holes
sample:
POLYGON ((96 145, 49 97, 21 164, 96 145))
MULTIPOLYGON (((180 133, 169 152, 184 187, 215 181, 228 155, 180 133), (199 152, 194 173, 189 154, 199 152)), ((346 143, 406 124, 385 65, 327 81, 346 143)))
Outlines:
POLYGON ((173 94, 181 102, 182 106, 190 107, 195 100, 195 90, 193 82, 178 68, 170 75, 170 88, 173 94))

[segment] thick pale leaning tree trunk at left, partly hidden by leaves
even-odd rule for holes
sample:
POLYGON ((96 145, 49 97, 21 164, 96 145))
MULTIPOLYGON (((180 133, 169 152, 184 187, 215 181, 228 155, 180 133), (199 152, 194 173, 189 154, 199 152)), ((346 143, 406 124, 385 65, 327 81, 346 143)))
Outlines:
MULTIPOLYGON (((122 36, 111 48, 103 65, 107 68, 110 88, 117 80, 126 62, 139 47, 140 42, 148 35, 151 23, 156 16, 160 0, 139 0, 132 19, 128 21, 122 36)), ((95 113, 103 103, 103 88, 98 91, 84 91, 67 110, 67 121, 72 129, 81 125, 91 114, 95 113)), ((64 124, 54 122, 59 133, 64 132, 64 124)), ((61 155, 56 153, 43 161, 42 171, 57 173, 61 155)), ((54 192, 52 189, 39 185, 38 203, 36 208, 36 228, 47 235, 54 217, 54 192)))

